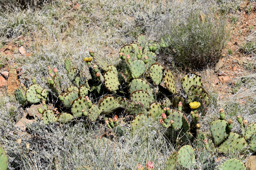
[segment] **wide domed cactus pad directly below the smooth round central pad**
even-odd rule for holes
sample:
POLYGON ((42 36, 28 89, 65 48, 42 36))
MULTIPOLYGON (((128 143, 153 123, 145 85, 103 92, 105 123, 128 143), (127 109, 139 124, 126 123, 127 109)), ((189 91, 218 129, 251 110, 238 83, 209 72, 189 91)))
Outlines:
POLYGON ((136 90, 144 90, 150 92, 151 88, 146 81, 142 79, 133 79, 129 84, 129 92, 132 93, 136 90))

